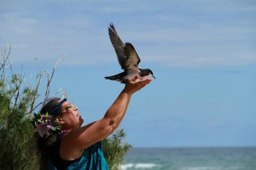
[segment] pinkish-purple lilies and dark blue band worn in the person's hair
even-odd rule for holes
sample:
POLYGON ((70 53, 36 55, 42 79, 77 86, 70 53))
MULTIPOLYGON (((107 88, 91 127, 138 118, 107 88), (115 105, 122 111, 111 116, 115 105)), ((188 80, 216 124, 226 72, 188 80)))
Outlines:
POLYGON ((36 125, 34 131, 38 132, 39 136, 44 137, 45 135, 49 136, 50 134, 58 134, 61 132, 61 124, 59 123, 58 118, 52 114, 56 109, 59 109, 65 101, 67 101, 67 98, 64 98, 56 107, 54 107, 50 111, 50 114, 48 112, 45 115, 40 112, 38 114, 34 113, 34 125, 36 125))

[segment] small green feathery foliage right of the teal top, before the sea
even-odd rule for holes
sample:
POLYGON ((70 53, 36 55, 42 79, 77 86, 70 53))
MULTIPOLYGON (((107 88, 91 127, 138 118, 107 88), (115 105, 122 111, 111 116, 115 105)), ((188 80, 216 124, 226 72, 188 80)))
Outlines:
POLYGON ((125 142, 125 136, 124 129, 120 129, 103 140, 103 153, 110 170, 121 169, 127 151, 132 148, 131 144, 125 142))

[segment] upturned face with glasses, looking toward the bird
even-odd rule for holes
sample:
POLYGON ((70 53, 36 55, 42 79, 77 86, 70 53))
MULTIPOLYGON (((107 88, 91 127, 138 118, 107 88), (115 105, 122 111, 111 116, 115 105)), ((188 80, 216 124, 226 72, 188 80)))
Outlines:
POLYGON ((61 118, 64 121, 64 124, 62 125, 63 129, 73 130, 75 128, 80 128, 83 124, 83 119, 80 116, 78 107, 72 107, 72 104, 68 101, 65 101, 61 105, 61 118))

